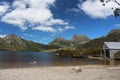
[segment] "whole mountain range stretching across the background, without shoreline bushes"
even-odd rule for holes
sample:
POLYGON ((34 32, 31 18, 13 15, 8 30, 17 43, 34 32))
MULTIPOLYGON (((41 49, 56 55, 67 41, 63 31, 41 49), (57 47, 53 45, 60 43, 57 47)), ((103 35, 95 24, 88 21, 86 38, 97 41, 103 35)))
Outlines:
POLYGON ((6 35, 0 38, 1 50, 28 50, 43 51, 59 48, 76 48, 76 49, 100 49, 104 42, 120 42, 120 29, 111 30, 107 35, 90 40, 86 35, 73 35, 71 40, 57 37, 50 44, 28 41, 15 34, 6 35))

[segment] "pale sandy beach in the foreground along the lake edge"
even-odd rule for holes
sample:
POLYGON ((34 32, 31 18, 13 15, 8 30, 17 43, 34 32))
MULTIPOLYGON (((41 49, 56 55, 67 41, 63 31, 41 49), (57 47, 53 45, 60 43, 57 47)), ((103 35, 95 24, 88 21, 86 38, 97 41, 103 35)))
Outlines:
POLYGON ((120 67, 91 65, 0 69, 0 80, 120 80, 120 67), (79 69, 80 72, 77 72, 79 69))

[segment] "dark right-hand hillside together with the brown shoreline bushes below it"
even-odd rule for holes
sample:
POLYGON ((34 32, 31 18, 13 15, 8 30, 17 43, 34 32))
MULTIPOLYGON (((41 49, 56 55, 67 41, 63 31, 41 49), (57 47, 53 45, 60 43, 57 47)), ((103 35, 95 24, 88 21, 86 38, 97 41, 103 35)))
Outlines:
MULTIPOLYGON (((100 56, 100 49, 104 42, 120 41, 120 29, 112 30, 106 36, 90 40, 84 44, 78 44, 74 49, 57 50, 60 56, 78 55, 78 56, 100 56)), ((117 55, 119 56, 119 55, 117 55)))

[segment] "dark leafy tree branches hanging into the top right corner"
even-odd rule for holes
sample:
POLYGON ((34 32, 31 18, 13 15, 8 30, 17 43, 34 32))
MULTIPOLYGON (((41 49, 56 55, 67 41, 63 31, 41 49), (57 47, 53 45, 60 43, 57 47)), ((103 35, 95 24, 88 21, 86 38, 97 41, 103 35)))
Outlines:
MULTIPOLYGON (((100 0, 100 2, 103 4, 103 6, 105 6, 107 3, 109 2, 115 2, 116 4, 118 4, 120 6, 120 0, 100 0)), ((115 17, 120 16, 120 8, 112 8, 115 17)))

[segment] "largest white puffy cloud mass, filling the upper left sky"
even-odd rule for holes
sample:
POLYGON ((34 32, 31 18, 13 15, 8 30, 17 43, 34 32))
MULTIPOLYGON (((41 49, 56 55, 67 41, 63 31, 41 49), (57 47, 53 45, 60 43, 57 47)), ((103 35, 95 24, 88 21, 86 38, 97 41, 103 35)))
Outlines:
POLYGON ((55 19, 50 10, 55 0, 15 0, 11 5, 0 5, 1 21, 18 26, 22 30, 31 28, 43 32, 56 32, 53 26, 70 25, 68 22, 55 19), (52 27, 50 27, 52 26, 52 27))

